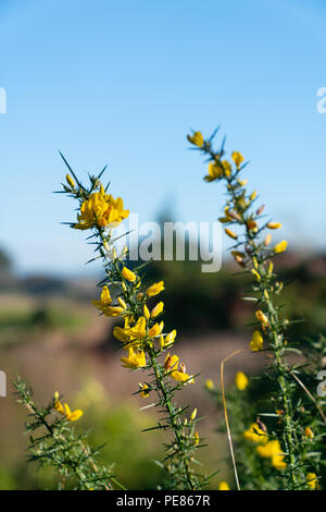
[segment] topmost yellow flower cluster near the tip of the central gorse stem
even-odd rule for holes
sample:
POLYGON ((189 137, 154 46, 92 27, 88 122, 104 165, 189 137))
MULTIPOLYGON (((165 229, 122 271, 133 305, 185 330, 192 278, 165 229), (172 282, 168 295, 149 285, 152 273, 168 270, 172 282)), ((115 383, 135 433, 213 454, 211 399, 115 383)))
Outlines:
POLYGON ((78 223, 74 228, 79 230, 88 230, 93 225, 115 228, 128 215, 129 210, 124 210, 122 198, 114 199, 112 195, 105 194, 101 186, 100 192, 90 194, 80 206, 80 214, 77 216, 78 223))

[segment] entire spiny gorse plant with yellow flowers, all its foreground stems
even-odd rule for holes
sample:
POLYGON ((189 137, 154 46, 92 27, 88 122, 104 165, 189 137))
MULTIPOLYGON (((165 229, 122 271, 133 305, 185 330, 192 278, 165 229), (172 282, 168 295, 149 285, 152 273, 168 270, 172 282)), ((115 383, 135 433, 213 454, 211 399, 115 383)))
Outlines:
MULTIPOLYGON (((265 352, 268 364, 264 374, 249 379, 239 368, 234 387, 225 391, 224 363, 221 389, 212 381, 206 389, 225 412, 231 462, 237 489, 318 489, 323 484, 325 466, 322 394, 316 391, 316 375, 325 365, 326 342, 292 340, 291 321, 281 315, 279 297, 284 288, 276 275, 273 259, 287 248, 287 242, 272 245, 272 232, 281 228, 264 215, 258 206, 255 191, 248 192, 242 178, 247 164, 239 151, 225 157, 224 142, 214 148, 215 133, 204 139, 200 132, 188 135, 192 147, 208 159, 204 180, 226 185, 226 202, 220 221, 233 241, 230 247, 240 272, 250 279, 250 290, 243 300, 254 306, 252 339, 248 350, 252 357, 265 352), (229 413, 229 414, 228 414, 229 413), (240 471, 239 471, 240 470, 240 471)), ((109 194, 99 175, 89 175, 82 183, 68 168, 61 193, 77 202, 77 218, 67 222, 73 230, 86 231, 88 243, 95 248, 90 261, 103 265, 104 278, 98 284, 99 296, 93 306, 105 317, 120 319, 113 336, 121 343, 122 366, 140 374, 140 383, 133 394, 143 400, 143 407, 155 407, 159 418, 153 427, 166 436, 164 453, 155 461, 164 471, 160 488, 197 490, 204 488, 212 475, 206 475, 197 461, 202 446, 198 431, 197 409, 178 404, 175 394, 186 386, 196 386, 197 375, 179 361, 175 346, 176 329, 166 329, 162 320, 164 303, 153 297, 164 291, 163 280, 147 284, 146 266, 130 267, 128 247, 117 253, 114 230, 129 211, 122 198, 109 194), (153 307, 152 307, 153 306, 153 307)), ((180 319, 181 324, 181 319, 180 319)), ((238 351, 239 352, 239 351, 238 351)), ((191 364, 190 364, 191 368, 191 364)), ((26 430, 32 432, 29 461, 54 467, 59 473, 58 488, 116 489, 123 488, 113 474, 113 465, 100 465, 98 450, 85 444, 85 436, 77 436, 72 423, 83 411, 71 411, 58 393, 49 405, 38 407, 32 392, 20 379, 16 382, 20 400, 29 411, 26 430)), ((110 432, 108 432, 110 437, 110 432)), ((149 463, 152 463, 149 462, 149 463)), ((217 468, 218 470, 218 468, 217 468)), ((220 490, 228 490, 222 481, 220 490)))

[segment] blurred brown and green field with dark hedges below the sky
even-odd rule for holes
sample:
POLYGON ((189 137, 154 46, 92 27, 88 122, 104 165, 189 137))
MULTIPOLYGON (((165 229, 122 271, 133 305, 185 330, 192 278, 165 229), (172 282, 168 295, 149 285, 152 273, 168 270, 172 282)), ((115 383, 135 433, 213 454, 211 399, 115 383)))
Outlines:
MULTIPOLYGON (((325 261, 291 256, 281 261, 283 279, 291 282, 285 294, 287 310, 297 318, 309 318, 296 325, 298 336, 326 332, 325 261)), ((243 329, 243 325, 252 321, 252 312, 240 298, 246 282, 230 276, 236 270, 231 264, 209 279, 196 264, 150 267, 151 278, 158 275, 166 282, 165 325, 180 332, 175 351, 189 371, 201 374, 197 385, 189 385, 179 398, 196 405, 199 416, 205 415, 200 435, 210 448, 201 450, 201 460, 209 472, 222 467, 212 480, 216 487, 218 479, 229 478, 227 443, 214 431, 221 411, 204 390, 205 379, 218 383, 222 358, 237 349, 246 351, 227 364, 227 383, 239 369, 250 376, 258 374, 264 362, 264 356, 247 350, 251 329, 243 329)), ((85 411, 76 427, 92 428, 92 444, 106 442, 102 456, 116 463, 123 484, 131 489, 155 488, 161 474, 151 461, 161 459, 163 439, 158 431, 140 430, 154 426, 156 415, 151 409, 139 411, 150 399, 131 397, 142 375, 121 367, 122 353, 111 334, 113 322, 98 316, 90 304, 97 293, 95 285, 96 279, 2 279, 0 367, 9 381, 16 373, 26 379, 40 403, 59 389, 73 406, 85 411)), ((8 398, 0 399, 0 489, 51 488, 49 472, 26 464, 26 413, 15 403, 10 383, 8 388, 8 398)))

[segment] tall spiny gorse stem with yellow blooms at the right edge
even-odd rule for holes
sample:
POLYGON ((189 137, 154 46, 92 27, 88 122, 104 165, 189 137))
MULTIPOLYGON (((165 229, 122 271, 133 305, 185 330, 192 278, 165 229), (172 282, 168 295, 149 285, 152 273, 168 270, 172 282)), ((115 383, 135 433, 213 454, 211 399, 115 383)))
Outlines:
MULTIPOLYGON (((261 411, 261 416, 264 414, 268 418, 268 428, 260 419, 254 420, 253 416, 251 425, 242 432, 244 439, 241 439, 241 444, 246 444, 247 440, 256 443, 258 454, 269 460, 271 466, 279 472, 280 477, 273 473, 273 488, 317 488, 321 465, 324 464, 322 441, 325 416, 318 404, 321 399, 316 394, 316 386, 308 390, 303 382, 309 375, 308 361, 299 359, 299 363, 293 364, 289 361, 289 355, 304 354, 298 342, 288 338, 287 329, 291 322, 281 316, 283 306, 277 301, 284 284, 277 278, 273 259, 286 251, 287 242, 281 241, 271 248, 271 231, 280 229, 281 224, 273 222, 264 215, 264 205, 256 206, 256 191, 248 192, 246 188, 248 181, 242 174, 247 163, 242 155, 234 151, 230 159, 227 159, 225 139, 218 149, 213 146, 215 134, 216 132, 205 141, 201 132, 195 132, 188 135, 188 141, 208 158, 209 169, 204 180, 226 185, 226 203, 220 221, 225 225, 225 233, 234 242, 230 247, 231 255, 243 272, 251 275, 253 279, 250 293, 243 297, 251 301, 255 307, 255 330, 252 333, 250 350, 264 350, 271 359, 266 378, 271 382, 268 402, 272 404, 272 411, 261 411), (304 393, 299 393, 298 390, 304 393)), ((317 364, 321 365, 321 359, 317 364)), ((314 371, 317 374, 316 366, 314 371)), ((240 375, 238 388, 246 387, 247 377, 240 375)), ((242 403, 238 404, 233 401, 237 428, 241 425, 239 413, 246 411, 248 415, 251 409, 243 403, 243 398, 241 400, 242 403)), ((247 403, 246 400, 244 402, 247 403)), ((255 414, 258 412, 259 410, 255 410, 255 414)), ((247 420, 249 419, 248 417, 247 420)), ((247 461, 251 458, 248 458, 247 452, 244 459, 244 465, 248 466, 247 461)), ((236 464, 235 476, 237 487, 240 488, 236 464)), ((267 480, 265 477, 262 483, 261 478, 255 480, 255 484, 258 488, 267 488, 267 480)))

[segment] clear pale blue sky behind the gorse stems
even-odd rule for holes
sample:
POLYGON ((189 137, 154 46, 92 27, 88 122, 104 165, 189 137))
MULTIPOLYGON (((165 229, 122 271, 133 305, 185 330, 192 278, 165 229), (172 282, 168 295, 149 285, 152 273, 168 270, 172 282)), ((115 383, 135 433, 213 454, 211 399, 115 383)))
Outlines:
POLYGON ((227 148, 301 247, 325 248, 323 0, 0 0, 0 246, 20 271, 80 272, 83 234, 61 225, 65 169, 108 163, 140 219, 218 216, 190 127, 221 124, 227 148))

